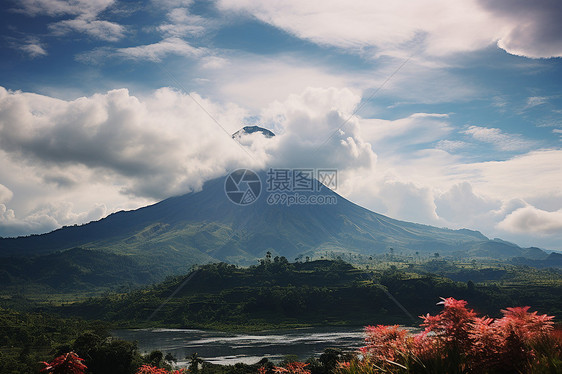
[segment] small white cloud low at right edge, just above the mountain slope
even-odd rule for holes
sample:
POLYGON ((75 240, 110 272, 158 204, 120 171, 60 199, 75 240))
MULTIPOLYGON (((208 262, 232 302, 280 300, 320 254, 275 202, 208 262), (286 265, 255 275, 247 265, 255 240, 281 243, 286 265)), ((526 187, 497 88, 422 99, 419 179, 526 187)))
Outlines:
POLYGON ((498 228, 514 233, 562 234, 562 209, 549 212, 528 205, 510 213, 498 228))

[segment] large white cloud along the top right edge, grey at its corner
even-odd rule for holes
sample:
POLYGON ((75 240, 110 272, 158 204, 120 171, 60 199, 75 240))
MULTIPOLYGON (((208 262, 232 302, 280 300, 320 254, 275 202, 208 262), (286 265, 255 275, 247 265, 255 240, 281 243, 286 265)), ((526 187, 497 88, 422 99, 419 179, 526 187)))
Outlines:
POLYGON ((374 55, 445 56, 497 43, 527 57, 562 54, 560 5, 519 1, 374 2, 220 0, 219 9, 247 14, 320 45, 374 55), (478 30, 474 32, 473 30, 478 30))

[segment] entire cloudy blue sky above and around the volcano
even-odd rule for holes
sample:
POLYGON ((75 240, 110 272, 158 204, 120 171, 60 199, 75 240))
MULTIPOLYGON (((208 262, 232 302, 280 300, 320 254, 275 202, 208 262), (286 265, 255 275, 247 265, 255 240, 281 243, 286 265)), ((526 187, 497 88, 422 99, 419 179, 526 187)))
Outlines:
POLYGON ((7 0, 0 236, 337 168, 393 218, 562 250, 558 0, 7 0), (246 125, 277 136, 230 134, 246 125))

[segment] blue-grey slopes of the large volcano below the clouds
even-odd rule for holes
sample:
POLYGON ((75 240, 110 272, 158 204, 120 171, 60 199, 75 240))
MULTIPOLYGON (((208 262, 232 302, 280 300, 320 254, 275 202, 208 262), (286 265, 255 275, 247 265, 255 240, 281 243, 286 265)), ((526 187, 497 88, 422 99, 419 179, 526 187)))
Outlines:
MULTIPOLYGON (((264 186, 267 175, 259 175, 264 186)), ((0 239, 0 256, 44 255, 81 247, 126 255, 139 264, 158 264, 177 272, 194 263, 217 260, 255 263, 267 251, 291 259, 328 251, 370 255, 389 248, 496 258, 525 257, 526 253, 476 231, 398 221, 355 205, 325 187, 320 194, 335 198, 336 204, 270 205, 262 191, 255 203, 240 206, 226 196, 224 181, 217 178, 199 192, 85 225, 0 239)), ((308 197, 313 192, 299 194, 308 197)))

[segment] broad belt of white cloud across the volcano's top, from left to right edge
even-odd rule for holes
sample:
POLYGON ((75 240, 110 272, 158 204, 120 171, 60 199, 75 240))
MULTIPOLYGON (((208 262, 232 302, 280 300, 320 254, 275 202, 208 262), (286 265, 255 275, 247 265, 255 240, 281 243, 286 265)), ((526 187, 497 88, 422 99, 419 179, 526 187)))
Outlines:
MULTIPOLYGON (((240 107, 192 95, 227 133, 246 124, 240 107)), ((0 89, 0 235, 84 222, 198 189, 233 168, 265 165, 334 167, 338 192, 369 209, 508 240, 523 235, 519 209, 562 210, 562 151, 466 162, 447 147, 432 148, 448 144, 452 132, 440 113, 394 121, 351 117, 337 130, 359 102, 349 89, 310 87, 273 101, 253 118, 277 136, 245 137, 249 157, 191 98, 170 89, 73 101, 0 89)), ((527 225, 524 243, 556 246, 562 236, 543 221, 527 225), (547 231, 553 234, 541 239, 547 231)))

